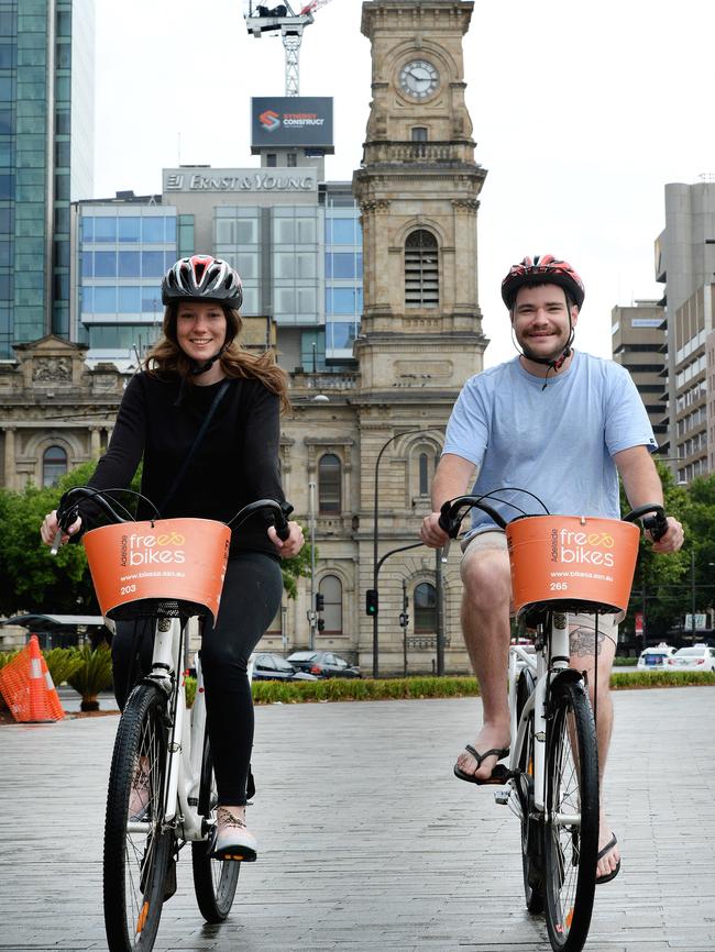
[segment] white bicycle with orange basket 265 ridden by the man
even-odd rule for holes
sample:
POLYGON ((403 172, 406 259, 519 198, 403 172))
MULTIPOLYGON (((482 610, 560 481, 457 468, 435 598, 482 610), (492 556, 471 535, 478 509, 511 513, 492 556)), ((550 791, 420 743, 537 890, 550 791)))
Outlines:
POLYGON ((581 952, 596 885, 598 750, 586 678, 570 666, 569 613, 627 608, 639 533, 626 523, 641 519, 653 540, 668 523, 658 505, 622 521, 519 510, 507 523, 491 505, 513 506, 499 491, 446 502, 440 525, 455 538, 466 512, 477 508, 506 530, 515 609, 521 630, 535 632, 534 653, 520 644, 509 649, 509 764, 497 764, 486 783, 502 787, 497 804, 509 806, 521 824, 527 909, 544 912, 556 952, 581 952))

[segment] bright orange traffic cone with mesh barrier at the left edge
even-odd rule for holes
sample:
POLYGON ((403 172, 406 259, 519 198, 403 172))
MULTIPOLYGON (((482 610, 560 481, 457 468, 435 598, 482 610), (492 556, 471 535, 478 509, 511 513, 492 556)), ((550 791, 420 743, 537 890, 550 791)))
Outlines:
POLYGON ((13 718, 21 723, 57 721, 65 716, 36 634, 0 668, 0 693, 13 718))

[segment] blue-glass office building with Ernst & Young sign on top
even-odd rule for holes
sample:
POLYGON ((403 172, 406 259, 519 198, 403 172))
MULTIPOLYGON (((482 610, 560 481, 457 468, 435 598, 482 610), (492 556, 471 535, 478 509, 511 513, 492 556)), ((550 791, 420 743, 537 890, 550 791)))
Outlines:
POLYGON ((183 167, 164 170, 161 197, 119 192, 77 213, 76 339, 89 359, 141 353, 163 313, 160 263, 208 252, 241 275, 242 313, 275 321, 287 370, 352 362, 362 233, 350 182, 318 182, 312 168, 183 167))

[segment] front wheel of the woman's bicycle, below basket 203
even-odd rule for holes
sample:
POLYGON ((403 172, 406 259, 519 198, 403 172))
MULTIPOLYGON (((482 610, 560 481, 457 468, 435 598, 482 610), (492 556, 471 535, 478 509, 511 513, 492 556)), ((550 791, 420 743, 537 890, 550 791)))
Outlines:
POLYGON ((134 688, 119 722, 105 821, 105 928, 110 952, 148 952, 164 904, 174 834, 163 830, 166 699, 134 688))

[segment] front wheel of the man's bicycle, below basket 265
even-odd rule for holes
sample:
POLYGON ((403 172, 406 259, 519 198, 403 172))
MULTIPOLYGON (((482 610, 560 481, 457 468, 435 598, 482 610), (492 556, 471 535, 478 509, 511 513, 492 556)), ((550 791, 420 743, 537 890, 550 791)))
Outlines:
POLYGON ((580 952, 591 925, 598 853, 596 728, 581 682, 557 682, 553 687, 546 768, 543 885, 549 940, 558 952, 580 952))

